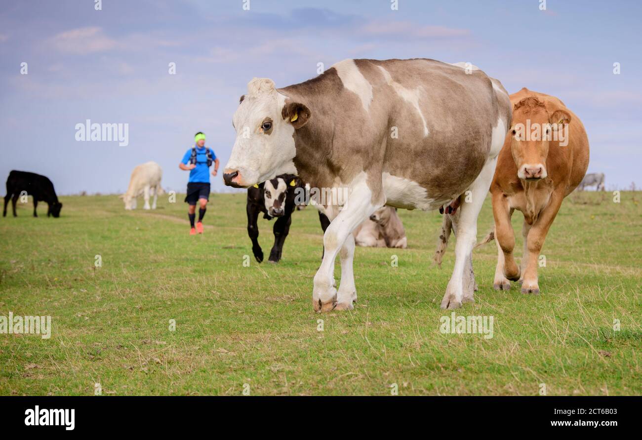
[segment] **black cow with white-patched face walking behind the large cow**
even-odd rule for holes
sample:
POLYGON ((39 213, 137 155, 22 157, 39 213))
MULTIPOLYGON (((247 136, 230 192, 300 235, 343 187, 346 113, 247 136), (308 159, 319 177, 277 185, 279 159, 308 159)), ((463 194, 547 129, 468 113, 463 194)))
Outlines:
MULTIPOLYGON (((272 220, 277 218, 274 223, 274 245, 270 252, 268 261, 277 263, 281 260, 281 251, 292 223, 292 211, 295 208, 295 196, 297 188, 299 191, 305 191, 304 183, 299 177, 292 174, 283 174, 268 180, 261 184, 250 186, 247 190, 247 233, 252 240, 252 253, 256 261, 263 261, 263 251, 259 245, 259 228, 256 220, 259 212, 263 213, 263 218, 272 220)), ((330 220, 319 213, 321 227, 325 229, 330 224, 330 220)))

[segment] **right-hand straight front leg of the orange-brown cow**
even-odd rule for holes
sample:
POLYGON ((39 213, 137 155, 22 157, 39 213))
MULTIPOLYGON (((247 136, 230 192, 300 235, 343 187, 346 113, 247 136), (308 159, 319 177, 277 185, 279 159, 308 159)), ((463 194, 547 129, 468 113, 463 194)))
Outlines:
POLYGON ((562 205, 562 200, 564 200, 563 190, 553 193, 550 204, 542 210, 539 218, 537 218, 537 221, 532 225, 530 231, 528 231, 528 261, 526 261, 526 269, 521 288, 523 294, 539 294, 537 260, 539 260, 539 252, 542 250, 544 240, 546 240, 548 229, 551 227, 551 224, 553 224, 557 211, 559 211, 562 205))

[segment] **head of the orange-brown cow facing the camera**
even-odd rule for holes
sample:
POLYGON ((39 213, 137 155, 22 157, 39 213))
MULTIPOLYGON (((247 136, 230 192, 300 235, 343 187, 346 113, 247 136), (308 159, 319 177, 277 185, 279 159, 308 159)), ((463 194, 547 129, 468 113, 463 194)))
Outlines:
MULTIPOLYGON (((552 114, 546 105, 535 96, 527 96, 515 104, 510 127, 513 159, 517 165, 517 177, 524 180, 540 180, 548 176, 546 157, 551 139, 560 139, 562 130, 571 121, 564 110, 552 114)), ((568 130, 566 130, 568 136, 568 130)))

